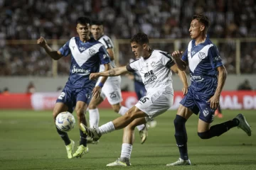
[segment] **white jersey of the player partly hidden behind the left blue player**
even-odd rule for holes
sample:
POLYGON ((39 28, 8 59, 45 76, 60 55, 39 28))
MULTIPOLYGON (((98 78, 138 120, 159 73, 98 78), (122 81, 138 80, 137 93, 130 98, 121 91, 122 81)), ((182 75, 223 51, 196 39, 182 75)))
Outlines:
MULTIPOLYGON (((114 52, 113 42, 107 35, 102 35, 98 41, 100 41, 105 46, 106 49, 112 48, 112 50, 114 52)), ((110 67, 111 67, 111 69, 116 67, 116 65, 114 64, 114 60, 112 60, 112 61, 110 60, 110 67)), ((100 64, 100 72, 104 72, 104 71, 105 71, 104 64, 100 64)), ((101 79, 101 77, 100 77, 100 79, 101 79)), ((111 80, 120 79, 120 77, 108 77, 107 80, 109 80, 109 79, 111 79, 111 80)))

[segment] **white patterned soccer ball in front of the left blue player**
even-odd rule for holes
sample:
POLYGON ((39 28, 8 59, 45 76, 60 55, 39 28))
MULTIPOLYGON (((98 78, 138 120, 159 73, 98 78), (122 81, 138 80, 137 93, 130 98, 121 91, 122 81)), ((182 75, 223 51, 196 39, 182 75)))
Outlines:
POLYGON ((58 128, 58 130, 62 132, 68 132, 74 128, 75 118, 68 111, 59 113, 55 120, 55 125, 58 128))

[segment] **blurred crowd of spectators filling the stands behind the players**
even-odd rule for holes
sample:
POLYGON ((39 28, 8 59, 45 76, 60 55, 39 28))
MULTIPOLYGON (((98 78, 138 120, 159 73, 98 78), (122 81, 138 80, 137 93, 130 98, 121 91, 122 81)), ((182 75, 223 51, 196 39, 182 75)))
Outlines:
MULTIPOLYGON (((256 38, 255 0, 0 0, 0 13, 0 75, 52 76, 52 60, 37 45, 6 40, 68 40, 77 35, 79 16, 104 21, 105 34, 113 39, 129 39, 139 31, 149 38, 189 38, 195 13, 210 18, 210 38, 256 38)), ((235 73, 235 42, 218 43, 218 48, 228 72, 235 73)), ((119 50, 119 63, 127 64, 129 45, 119 50)), ((240 52, 240 71, 255 73, 256 42, 242 42, 240 52)), ((69 66, 69 58, 60 60, 58 74, 68 75, 69 66)))

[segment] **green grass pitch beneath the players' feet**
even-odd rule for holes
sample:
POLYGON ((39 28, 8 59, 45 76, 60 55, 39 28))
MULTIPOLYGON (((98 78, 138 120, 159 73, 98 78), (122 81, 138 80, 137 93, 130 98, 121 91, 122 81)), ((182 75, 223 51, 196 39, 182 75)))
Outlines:
MULTIPOLYGON (((252 130, 256 127, 256 111, 223 111, 222 119, 213 125, 244 113, 252 130)), ((160 115, 156 128, 140 144, 139 132, 132 150, 132 166, 106 167, 121 152, 122 130, 102 136, 98 145, 89 145, 89 153, 81 159, 68 159, 64 142, 58 136, 51 111, 0 111, 0 169, 256 169, 256 135, 233 128, 220 137, 201 140, 197 135, 198 117, 186 123, 188 155, 193 166, 166 166, 178 159, 174 138, 176 111, 160 115)), ((74 114, 75 115, 75 114, 74 114)), ((100 110, 100 125, 117 118, 111 110, 100 110)), ((78 147, 78 123, 69 133, 78 147)))

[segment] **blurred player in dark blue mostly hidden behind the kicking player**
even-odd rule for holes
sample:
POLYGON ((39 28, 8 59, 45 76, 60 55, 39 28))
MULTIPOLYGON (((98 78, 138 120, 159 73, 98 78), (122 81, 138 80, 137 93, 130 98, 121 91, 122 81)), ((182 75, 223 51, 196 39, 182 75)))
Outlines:
MULTIPOLYGON (((136 58, 136 60, 138 60, 138 58, 136 58)), ((130 59, 129 62, 134 62, 134 59, 130 59)), ((145 86, 143 84, 142 81, 142 77, 141 75, 139 75, 139 72, 132 72, 127 74, 127 77, 129 79, 131 79, 132 81, 134 81, 134 91, 136 93, 137 99, 139 101, 139 99, 143 98, 144 96, 146 96, 146 89, 145 86)), ((156 127, 156 120, 150 120, 148 123, 146 123, 146 125, 148 126, 148 128, 155 128, 156 127)))

